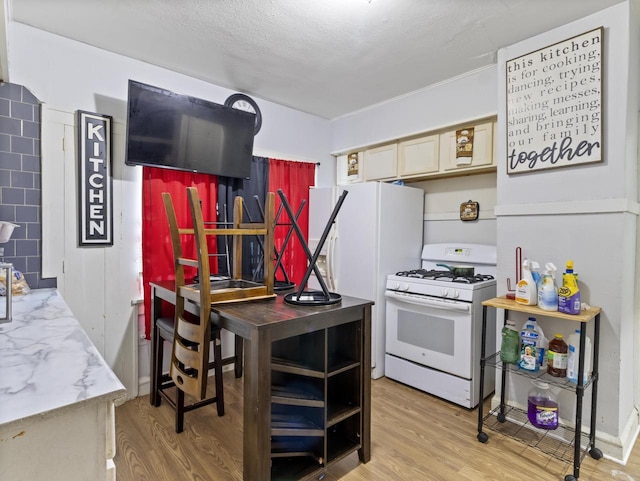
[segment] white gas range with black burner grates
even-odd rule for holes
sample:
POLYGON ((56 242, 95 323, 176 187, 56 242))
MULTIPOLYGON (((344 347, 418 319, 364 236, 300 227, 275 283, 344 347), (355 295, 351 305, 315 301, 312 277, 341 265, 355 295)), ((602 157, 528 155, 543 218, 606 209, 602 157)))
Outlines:
MULTIPOLYGON (((496 295, 495 275, 495 246, 467 243, 427 244, 420 269, 389 275, 385 376, 475 407, 482 302, 496 295), (460 264, 466 270, 473 268, 474 275, 459 276, 448 270, 460 264)), ((490 313, 488 352, 495 350, 495 338, 495 314, 490 313)), ((494 389, 494 371, 486 370, 485 378, 487 396, 494 389)))

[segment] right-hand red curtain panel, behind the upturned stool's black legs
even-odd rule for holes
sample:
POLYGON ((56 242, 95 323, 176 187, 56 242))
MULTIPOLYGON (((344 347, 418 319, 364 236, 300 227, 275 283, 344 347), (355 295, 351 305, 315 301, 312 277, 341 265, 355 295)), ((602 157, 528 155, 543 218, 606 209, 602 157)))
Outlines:
MULTIPOLYGON (((309 239, 309 187, 315 185, 315 172, 316 164, 311 162, 269 159, 268 190, 269 192, 276 193, 276 212, 278 212, 281 204, 280 197, 277 195, 278 189, 282 189, 284 192, 294 214, 298 211, 302 200, 306 200, 306 206, 297 220, 306 240, 309 239)), ((289 217, 283 209, 278 219, 278 224, 288 223, 289 217)), ((275 229, 274 243, 278 252, 282 250, 288 231, 288 225, 278 225, 275 229)), ((302 249, 297 234, 294 233, 291 236, 282 261, 289 280, 299 286, 307 270, 307 256, 302 249)), ((278 269, 278 271, 276 271, 276 279, 283 280, 281 277, 282 274, 278 269)))

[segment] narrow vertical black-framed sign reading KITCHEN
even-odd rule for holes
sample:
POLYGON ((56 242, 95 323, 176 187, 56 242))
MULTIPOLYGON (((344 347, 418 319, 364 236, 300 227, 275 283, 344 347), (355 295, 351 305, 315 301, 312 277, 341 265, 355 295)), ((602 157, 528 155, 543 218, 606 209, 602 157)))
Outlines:
POLYGON ((78 244, 113 245, 113 118, 78 110, 78 244))

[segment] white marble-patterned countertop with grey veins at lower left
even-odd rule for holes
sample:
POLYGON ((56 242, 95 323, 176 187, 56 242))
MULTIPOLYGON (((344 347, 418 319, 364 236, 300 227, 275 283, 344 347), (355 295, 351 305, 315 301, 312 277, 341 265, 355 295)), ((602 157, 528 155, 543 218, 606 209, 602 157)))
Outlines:
POLYGON ((126 392, 55 289, 13 296, 0 324, 0 426, 126 392))

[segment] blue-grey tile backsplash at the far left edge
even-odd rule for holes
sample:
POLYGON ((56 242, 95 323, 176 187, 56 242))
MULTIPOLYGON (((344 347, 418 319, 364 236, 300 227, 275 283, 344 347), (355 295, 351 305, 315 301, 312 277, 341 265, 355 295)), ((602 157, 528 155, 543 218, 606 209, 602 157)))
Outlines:
POLYGON ((0 220, 19 227, 4 247, 5 262, 32 289, 56 287, 42 278, 40 102, 25 87, 0 85, 0 220))

